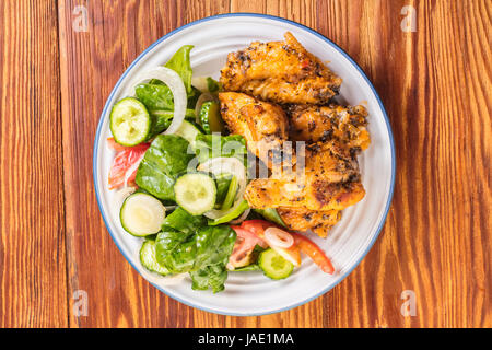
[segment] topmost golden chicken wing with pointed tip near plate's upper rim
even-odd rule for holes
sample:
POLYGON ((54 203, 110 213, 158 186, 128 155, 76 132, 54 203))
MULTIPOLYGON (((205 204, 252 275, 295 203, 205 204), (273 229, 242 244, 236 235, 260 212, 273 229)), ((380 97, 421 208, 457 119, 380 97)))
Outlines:
POLYGON ((277 103, 328 103, 338 94, 342 80, 291 33, 284 37, 284 42, 256 42, 229 54, 221 71, 224 90, 277 103))

